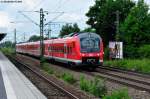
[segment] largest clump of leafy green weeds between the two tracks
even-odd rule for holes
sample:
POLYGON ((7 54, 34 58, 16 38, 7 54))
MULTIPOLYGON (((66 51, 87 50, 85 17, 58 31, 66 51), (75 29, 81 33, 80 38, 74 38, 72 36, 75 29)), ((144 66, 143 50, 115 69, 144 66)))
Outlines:
POLYGON ((80 89, 85 92, 89 92, 97 97, 102 97, 107 92, 104 81, 98 79, 97 77, 94 80, 86 80, 84 76, 81 76, 80 89))

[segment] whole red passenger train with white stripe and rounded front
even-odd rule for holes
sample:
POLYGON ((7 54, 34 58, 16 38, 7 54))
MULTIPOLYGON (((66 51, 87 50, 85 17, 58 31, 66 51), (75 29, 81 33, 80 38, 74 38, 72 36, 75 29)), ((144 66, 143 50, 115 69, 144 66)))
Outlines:
MULTIPOLYGON (((16 45, 18 53, 40 56, 40 42, 16 45)), ((72 33, 44 41, 44 57, 69 65, 98 66, 103 63, 103 42, 96 33, 72 33)))

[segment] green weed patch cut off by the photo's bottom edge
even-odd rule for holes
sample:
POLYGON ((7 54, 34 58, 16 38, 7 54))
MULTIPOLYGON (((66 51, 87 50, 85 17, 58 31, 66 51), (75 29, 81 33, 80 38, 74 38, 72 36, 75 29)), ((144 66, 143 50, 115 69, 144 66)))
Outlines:
POLYGON ((127 89, 115 90, 111 95, 106 95, 102 99, 131 99, 127 89))

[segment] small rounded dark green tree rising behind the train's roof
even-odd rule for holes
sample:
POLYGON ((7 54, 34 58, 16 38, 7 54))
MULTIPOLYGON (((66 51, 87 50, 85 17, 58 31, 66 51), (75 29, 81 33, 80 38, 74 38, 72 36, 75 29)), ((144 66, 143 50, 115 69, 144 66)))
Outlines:
POLYGON ((73 25, 66 24, 62 27, 59 36, 63 37, 73 32, 80 32, 80 28, 78 27, 78 25, 76 23, 73 25))

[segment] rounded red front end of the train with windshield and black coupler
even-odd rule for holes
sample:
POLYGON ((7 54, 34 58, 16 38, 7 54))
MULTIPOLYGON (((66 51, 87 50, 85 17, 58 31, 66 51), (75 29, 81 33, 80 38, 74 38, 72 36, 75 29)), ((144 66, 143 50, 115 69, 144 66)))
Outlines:
POLYGON ((82 65, 102 65, 104 52, 101 37, 96 33, 81 33, 78 38, 82 65))

